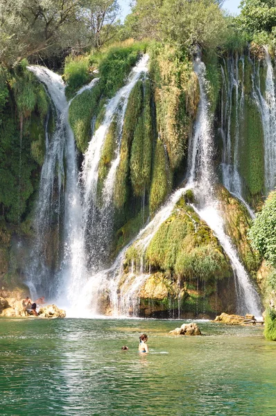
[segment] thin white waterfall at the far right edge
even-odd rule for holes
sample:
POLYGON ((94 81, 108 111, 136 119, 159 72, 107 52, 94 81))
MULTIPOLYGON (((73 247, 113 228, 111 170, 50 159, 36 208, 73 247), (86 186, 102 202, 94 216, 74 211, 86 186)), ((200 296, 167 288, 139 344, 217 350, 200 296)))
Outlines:
POLYGON ((264 130, 264 166, 266 193, 275 189, 276 185, 276 94, 275 94, 275 73, 273 64, 264 46, 266 61, 266 91, 261 94, 259 65, 255 67, 253 76, 254 97, 261 112, 261 121, 264 130))

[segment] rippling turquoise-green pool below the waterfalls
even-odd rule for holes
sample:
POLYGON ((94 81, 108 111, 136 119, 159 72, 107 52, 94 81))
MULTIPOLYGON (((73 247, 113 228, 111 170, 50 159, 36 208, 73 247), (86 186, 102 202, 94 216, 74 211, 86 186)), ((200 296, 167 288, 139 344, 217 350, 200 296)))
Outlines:
POLYGON ((202 337, 169 336, 179 323, 2 318, 0 414, 276 415, 276 343, 262 328, 198 322, 202 337))

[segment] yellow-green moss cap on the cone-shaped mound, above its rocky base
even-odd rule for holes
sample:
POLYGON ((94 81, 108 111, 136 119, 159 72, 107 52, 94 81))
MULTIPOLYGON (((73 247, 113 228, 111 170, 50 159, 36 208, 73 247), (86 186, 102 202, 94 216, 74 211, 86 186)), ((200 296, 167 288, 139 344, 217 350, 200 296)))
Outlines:
POLYGON ((153 236, 146 260, 153 268, 171 270, 184 280, 222 279, 231 273, 216 237, 184 202, 153 236))

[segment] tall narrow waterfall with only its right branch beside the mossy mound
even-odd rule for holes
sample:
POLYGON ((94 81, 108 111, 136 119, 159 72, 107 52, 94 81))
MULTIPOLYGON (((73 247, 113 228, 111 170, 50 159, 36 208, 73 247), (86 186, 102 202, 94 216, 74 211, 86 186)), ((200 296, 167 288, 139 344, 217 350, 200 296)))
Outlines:
POLYGON ((230 259, 238 286, 239 313, 255 313, 257 316, 260 316, 259 296, 257 291, 255 291, 255 288, 253 288, 250 283, 250 279, 245 272, 245 268, 243 268, 241 261, 239 261, 238 254, 236 253, 230 238, 225 234, 223 219, 221 218, 221 214, 218 209, 218 201, 214 197, 214 193, 212 193, 214 185, 214 172, 212 172, 213 164, 211 156, 214 151, 214 140, 212 137, 210 114, 206 95, 205 64, 203 64, 199 58, 195 62, 194 71, 197 73, 200 83, 200 105, 198 110, 199 114, 196 119, 195 135, 191 141, 190 153, 192 155, 194 153, 200 153, 200 157, 198 157, 198 159, 193 157, 191 158, 191 173, 188 184, 193 184, 193 172, 199 172, 199 180, 194 188, 196 195, 200 198, 200 206, 196 208, 196 211, 198 212, 200 218, 205 220, 207 225, 209 225, 209 227, 214 231, 214 234, 225 250, 227 257, 230 259))

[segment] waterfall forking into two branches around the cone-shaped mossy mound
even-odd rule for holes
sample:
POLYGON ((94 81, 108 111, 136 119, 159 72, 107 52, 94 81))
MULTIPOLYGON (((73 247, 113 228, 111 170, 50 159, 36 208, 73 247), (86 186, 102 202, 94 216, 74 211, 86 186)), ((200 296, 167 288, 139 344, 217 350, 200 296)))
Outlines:
MULTIPOLYGON (((261 316, 259 296, 250 283, 248 274, 245 268, 243 268, 229 236, 225 234, 223 219, 218 210, 218 201, 214 196, 214 183, 216 180, 212 163, 214 138, 212 136, 212 119, 209 114, 209 101, 206 94, 207 81, 205 78, 205 64, 200 58, 197 58, 194 62, 194 71, 198 76, 200 84, 200 103, 193 139, 189 143, 189 179, 187 187, 178 189, 173 193, 166 205, 156 214, 155 218, 139 232, 135 239, 135 246, 137 248, 140 247, 142 249, 141 253, 144 254, 146 247, 155 232, 157 232, 159 226, 173 211, 175 202, 177 202, 184 191, 193 189, 199 200, 199 207, 194 207, 196 212, 214 231, 214 234, 232 264, 237 289, 238 312, 255 313, 256 316, 261 316)), ((109 281, 110 293, 112 293, 111 300, 115 299, 113 301, 115 311, 127 315, 130 308, 135 312, 135 303, 137 302, 137 298, 139 298, 139 288, 148 279, 150 272, 148 273, 148 270, 145 270, 141 257, 139 270, 134 270, 132 264, 132 270, 128 279, 121 284, 123 254, 117 259, 120 268, 114 268, 115 271, 112 271, 112 276, 109 281), (119 285, 121 286, 119 287, 119 285), (120 300, 118 299, 119 291, 121 291, 120 300)))

